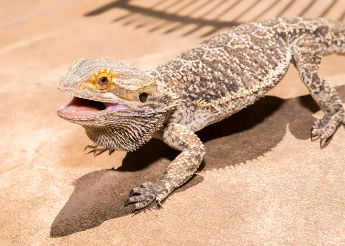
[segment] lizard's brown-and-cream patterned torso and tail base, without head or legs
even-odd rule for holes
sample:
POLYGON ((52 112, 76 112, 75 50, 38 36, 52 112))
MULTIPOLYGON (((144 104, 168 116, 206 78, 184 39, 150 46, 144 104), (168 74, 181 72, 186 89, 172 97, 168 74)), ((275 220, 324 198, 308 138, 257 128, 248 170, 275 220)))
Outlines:
POLYGON ((183 101, 172 122, 198 131, 271 90, 287 72, 296 38, 310 36, 321 55, 343 53, 344 30, 343 23, 322 18, 243 24, 211 37, 152 74, 175 87, 183 101))

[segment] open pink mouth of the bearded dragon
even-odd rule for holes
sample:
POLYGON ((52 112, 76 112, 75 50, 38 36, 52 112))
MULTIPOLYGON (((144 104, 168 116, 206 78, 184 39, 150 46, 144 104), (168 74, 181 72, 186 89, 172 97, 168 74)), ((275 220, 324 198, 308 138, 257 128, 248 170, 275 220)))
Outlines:
POLYGON ((100 102, 72 96, 69 101, 58 110, 63 118, 94 118, 114 111, 126 110, 123 104, 100 102))

